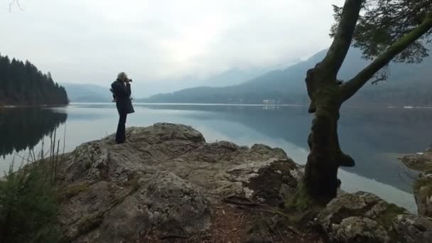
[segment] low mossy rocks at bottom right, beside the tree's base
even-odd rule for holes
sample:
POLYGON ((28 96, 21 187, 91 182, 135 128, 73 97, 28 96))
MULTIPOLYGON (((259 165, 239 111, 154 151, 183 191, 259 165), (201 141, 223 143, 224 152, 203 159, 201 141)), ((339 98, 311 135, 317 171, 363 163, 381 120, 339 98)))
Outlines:
POLYGON ((431 219, 390 204, 372 193, 339 195, 318 215, 331 242, 428 242, 431 219))

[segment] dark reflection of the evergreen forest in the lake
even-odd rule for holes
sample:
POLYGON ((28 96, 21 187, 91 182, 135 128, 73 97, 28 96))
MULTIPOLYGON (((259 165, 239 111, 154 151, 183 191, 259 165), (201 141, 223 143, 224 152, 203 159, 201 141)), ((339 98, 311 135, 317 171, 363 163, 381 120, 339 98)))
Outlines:
POLYGON ((0 109, 0 156, 33 148, 67 118, 52 109, 0 109))

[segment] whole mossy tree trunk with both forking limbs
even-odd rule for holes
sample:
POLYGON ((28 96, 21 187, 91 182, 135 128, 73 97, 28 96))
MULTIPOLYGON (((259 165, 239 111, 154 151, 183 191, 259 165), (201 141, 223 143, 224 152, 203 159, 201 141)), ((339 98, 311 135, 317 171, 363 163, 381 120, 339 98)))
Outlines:
POLYGON ((327 55, 315 68, 308 70, 306 76, 306 87, 311 98, 309 112, 315 113, 315 117, 308 138, 311 153, 306 164, 304 183, 308 195, 318 202, 328 202, 335 198, 340 185, 339 166, 355 166, 354 160, 340 150, 338 119, 341 104, 352 97, 392 58, 432 28, 432 13, 427 13, 423 23, 393 43, 351 80, 340 85, 336 76, 350 48, 363 2, 345 0, 338 31, 327 55))

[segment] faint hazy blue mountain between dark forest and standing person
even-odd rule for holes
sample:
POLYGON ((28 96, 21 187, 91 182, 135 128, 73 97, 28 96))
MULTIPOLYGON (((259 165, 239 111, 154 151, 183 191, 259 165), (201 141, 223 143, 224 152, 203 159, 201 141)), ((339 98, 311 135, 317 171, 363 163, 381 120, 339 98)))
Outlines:
POLYGON ((112 95, 109 86, 82 85, 65 83, 70 102, 111 102, 112 95))

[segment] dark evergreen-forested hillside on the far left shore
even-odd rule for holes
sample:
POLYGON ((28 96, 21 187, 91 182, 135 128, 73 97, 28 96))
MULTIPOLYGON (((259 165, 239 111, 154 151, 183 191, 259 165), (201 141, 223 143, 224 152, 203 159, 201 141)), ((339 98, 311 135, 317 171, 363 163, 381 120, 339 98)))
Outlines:
POLYGON ((0 105, 68 104, 64 87, 54 82, 50 72, 42 73, 26 61, 0 55, 0 105))

